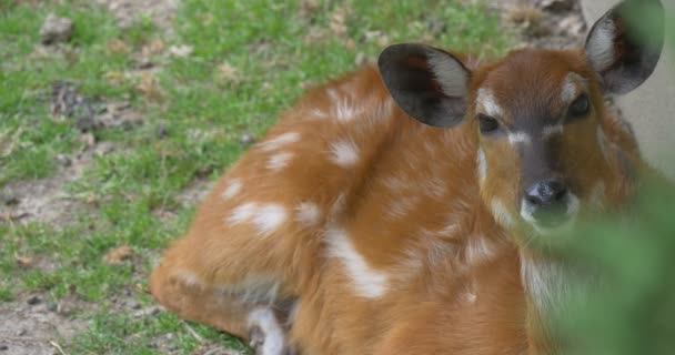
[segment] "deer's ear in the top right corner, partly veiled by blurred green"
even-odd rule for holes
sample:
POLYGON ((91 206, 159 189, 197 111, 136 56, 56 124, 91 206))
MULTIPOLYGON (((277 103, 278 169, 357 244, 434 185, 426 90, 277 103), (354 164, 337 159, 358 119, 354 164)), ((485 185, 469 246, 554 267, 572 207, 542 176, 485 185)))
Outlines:
POLYGON ((607 11, 586 38, 586 57, 608 93, 639 87, 654 71, 664 41, 658 0, 627 0, 607 11))

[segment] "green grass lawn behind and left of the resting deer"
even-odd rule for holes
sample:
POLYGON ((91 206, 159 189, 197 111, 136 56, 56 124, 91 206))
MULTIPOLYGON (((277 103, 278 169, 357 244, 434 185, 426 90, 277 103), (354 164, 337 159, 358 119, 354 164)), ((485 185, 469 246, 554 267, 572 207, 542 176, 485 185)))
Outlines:
MULTIPOLYGON (((386 43, 422 40, 481 55, 508 44, 496 16, 447 1, 332 1, 330 9, 302 14, 300 1, 184 0, 170 29, 148 17, 121 29, 93 1, 36 3, 0 1, 0 186, 58 174, 58 154, 88 149, 74 120, 50 114, 54 81, 75 82, 99 101, 128 101, 143 119, 132 128, 93 130, 115 150, 94 156, 66 186, 84 206, 73 221, 0 223, 1 302, 31 292, 58 302, 74 290, 91 305, 74 315, 90 320, 87 329, 63 343, 72 354, 161 353, 150 344, 167 333, 172 352, 190 354, 200 345, 173 314, 137 317, 111 300, 131 292, 142 306, 153 304, 148 272, 193 214, 181 191, 220 175, 245 150, 240 135, 260 136, 306 84, 355 69, 359 53, 374 59, 386 43), (50 12, 70 17, 75 32, 71 42, 44 51, 38 33, 50 12), (434 32, 430 23, 446 29, 434 32), (150 54, 154 83, 137 69, 152 45, 159 48, 150 54), (192 51, 172 55, 172 45, 192 51), (132 261, 102 261, 121 245, 132 247, 132 261), (50 266, 23 267, 18 256, 50 266)), ((222 333, 190 326, 206 343, 241 348, 222 333)))

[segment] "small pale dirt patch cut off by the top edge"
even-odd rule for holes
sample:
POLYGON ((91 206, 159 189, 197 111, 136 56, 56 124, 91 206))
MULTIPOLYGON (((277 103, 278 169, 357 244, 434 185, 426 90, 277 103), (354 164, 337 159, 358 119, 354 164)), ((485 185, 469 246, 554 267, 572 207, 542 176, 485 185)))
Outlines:
POLYGON ((97 0, 118 19, 122 28, 150 17, 152 23, 165 28, 175 17, 180 0, 97 0))

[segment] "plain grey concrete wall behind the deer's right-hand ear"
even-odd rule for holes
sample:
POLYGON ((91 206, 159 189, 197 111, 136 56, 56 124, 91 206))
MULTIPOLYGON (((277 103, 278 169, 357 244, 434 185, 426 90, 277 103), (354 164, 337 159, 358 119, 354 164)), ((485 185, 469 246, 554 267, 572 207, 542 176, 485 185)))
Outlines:
MULTIPOLYGON (((635 129, 645 159, 675 181, 675 0, 661 1, 667 12, 664 53, 652 77, 635 91, 618 97, 617 102, 635 129)), ((581 2, 591 28, 618 1, 581 2)))

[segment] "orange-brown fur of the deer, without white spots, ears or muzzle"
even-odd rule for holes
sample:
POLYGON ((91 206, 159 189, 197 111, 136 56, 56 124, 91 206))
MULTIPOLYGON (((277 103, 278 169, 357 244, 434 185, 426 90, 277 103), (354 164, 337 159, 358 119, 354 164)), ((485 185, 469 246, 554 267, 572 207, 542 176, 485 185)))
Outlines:
MULTIPOLYGON (((477 88, 490 87, 500 102, 536 102, 555 112, 563 110, 557 98, 564 75, 574 71, 584 77, 594 109, 591 116, 565 126, 560 142, 564 170, 582 199, 582 215, 590 213, 585 199, 598 180, 609 204, 625 199, 632 182, 617 156, 624 155, 635 170, 642 162, 633 136, 604 109, 582 53, 514 52, 472 69, 470 102, 477 88), (523 70, 544 77, 523 81, 523 70), (526 95, 515 98, 514 92, 526 95), (607 160, 595 125, 611 141, 607 160)), ((289 342, 302 354, 552 352, 542 335, 541 310, 531 305, 521 278, 527 227, 506 230, 490 211, 490 202, 498 197, 518 215, 518 154, 505 139, 481 138, 474 113, 470 104, 466 121, 455 129, 425 126, 395 105, 372 67, 313 89, 221 179, 188 234, 154 270, 153 295, 183 317, 245 338, 245 314, 252 305, 236 300, 238 290, 218 290, 264 275, 279 282, 278 298, 299 300, 289 342), (335 118, 341 102, 359 111, 347 122, 335 118), (265 150, 266 142, 289 132, 301 139, 265 150), (331 144, 345 139, 359 148, 350 168, 329 159, 331 144), (482 187, 478 144, 490 168, 482 187), (271 171, 266 162, 279 152, 293 158, 271 171), (223 199, 235 179, 242 191, 223 199), (286 219, 264 236, 252 223, 228 222, 233 209, 246 202, 280 204, 286 219), (320 207, 316 224, 294 220, 294 207, 302 202, 320 207), (380 297, 355 293, 346 265, 331 257, 326 233, 338 226, 372 270, 389 275, 380 297), (193 283, 183 272, 197 277, 193 283)))

